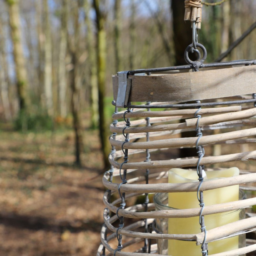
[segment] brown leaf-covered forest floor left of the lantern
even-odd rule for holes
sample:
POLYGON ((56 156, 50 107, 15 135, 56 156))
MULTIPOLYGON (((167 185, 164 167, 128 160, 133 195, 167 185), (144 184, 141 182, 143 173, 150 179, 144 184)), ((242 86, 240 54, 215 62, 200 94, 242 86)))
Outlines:
POLYGON ((0 255, 91 256, 100 244, 105 188, 97 131, 85 131, 83 167, 72 130, 0 131, 0 255), (90 140, 88 139, 90 138, 90 140))

